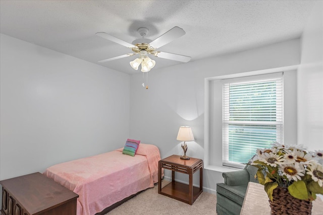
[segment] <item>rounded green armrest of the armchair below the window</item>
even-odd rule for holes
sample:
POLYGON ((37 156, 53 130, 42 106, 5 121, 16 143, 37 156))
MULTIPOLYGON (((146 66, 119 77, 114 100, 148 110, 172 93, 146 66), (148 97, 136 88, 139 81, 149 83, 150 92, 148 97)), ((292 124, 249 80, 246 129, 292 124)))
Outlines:
POLYGON ((248 185, 249 173, 247 170, 238 170, 222 173, 224 183, 229 186, 248 185))

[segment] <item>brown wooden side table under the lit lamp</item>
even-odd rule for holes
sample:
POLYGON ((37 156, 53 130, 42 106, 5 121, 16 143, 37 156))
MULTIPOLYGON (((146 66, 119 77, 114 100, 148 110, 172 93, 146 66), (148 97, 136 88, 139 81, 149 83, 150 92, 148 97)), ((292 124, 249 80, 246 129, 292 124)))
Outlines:
POLYGON ((182 160, 178 155, 162 159, 158 163, 158 193, 175 198, 188 204, 193 204, 203 190, 203 161, 190 158, 182 160), (172 170, 172 182, 161 188, 161 168, 172 170), (200 187, 193 186, 193 174, 200 171, 200 187), (175 172, 189 175, 189 184, 175 181, 175 172))

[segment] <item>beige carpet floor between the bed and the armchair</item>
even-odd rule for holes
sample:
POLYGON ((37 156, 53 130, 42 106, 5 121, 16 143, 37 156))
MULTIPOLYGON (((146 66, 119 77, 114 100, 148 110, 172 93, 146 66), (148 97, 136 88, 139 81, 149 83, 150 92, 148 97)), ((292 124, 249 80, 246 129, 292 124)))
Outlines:
MULTIPOLYGON (((167 181, 164 181, 163 185, 164 183, 167 183, 167 181)), ((106 213, 106 215, 217 214, 217 196, 214 194, 202 192, 193 205, 189 205, 165 195, 158 194, 157 187, 158 185, 155 185, 153 188, 141 192, 119 207, 106 213)))

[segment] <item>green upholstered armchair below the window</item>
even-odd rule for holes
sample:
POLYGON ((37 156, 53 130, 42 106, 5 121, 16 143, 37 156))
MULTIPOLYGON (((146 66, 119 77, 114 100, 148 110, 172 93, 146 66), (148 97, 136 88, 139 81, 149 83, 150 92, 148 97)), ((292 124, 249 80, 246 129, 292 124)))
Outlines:
POLYGON ((239 215, 249 181, 254 178, 257 168, 246 165, 243 170, 222 173, 224 183, 217 183, 218 215, 239 215))

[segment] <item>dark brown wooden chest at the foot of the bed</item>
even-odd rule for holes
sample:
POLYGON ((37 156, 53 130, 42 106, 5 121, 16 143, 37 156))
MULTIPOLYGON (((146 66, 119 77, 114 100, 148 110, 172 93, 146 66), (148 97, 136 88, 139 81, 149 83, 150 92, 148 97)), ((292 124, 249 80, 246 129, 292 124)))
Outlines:
POLYGON ((78 195, 41 173, 0 181, 4 215, 76 214, 78 195))

